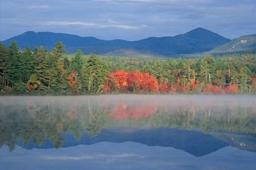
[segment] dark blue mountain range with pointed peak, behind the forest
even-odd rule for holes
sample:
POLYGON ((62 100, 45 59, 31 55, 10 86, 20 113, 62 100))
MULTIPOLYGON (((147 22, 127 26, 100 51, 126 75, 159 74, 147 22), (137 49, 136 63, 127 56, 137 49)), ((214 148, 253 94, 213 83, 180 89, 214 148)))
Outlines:
POLYGON ((2 43, 8 46, 12 40, 16 41, 21 49, 26 46, 31 49, 35 46, 45 46, 47 50, 51 50, 57 41, 61 41, 66 46, 68 53, 75 53, 78 49, 81 49, 85 54, 131 56, 145 53, 149 56, 164 57, 172 57, 183 53, 207 52, 230 41, 230 39, 203 28, 196 28, 173 37, 150 37, 139 41, 125 41, 122 39, 107 41, 71 34, 29 31, 6 39, 2 43))

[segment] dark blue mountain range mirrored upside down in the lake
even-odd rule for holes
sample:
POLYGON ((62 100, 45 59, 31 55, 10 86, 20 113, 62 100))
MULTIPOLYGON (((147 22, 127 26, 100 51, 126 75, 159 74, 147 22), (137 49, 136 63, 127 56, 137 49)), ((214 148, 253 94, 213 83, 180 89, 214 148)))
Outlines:
MULTIPOLYGON (((216 152, 220 148, 228 146, 227 143, 214 138, 209 134, 204 134, 198 131, 186 131, 179 129, 102 129, 99 136, 90 138, 88 134, 83 134, 81 140, 77 141, 72 134, 68 134, 64 141, 63 147, 76 146, 76 145, 92 145, 102 141, 109 141, 113 143, 122 143, 125 141, 133 141, 142 143, 148 146, 164 146, 173 147, 185 152, 200 157, 207 155, 211 152, 216 152), (125 132, 124 132, 125 131, 125 132), (127 132, 129 131, 129 132, 127 132)), ((53 148, 50 141, 47 141, 42 146, 28 145, 20 146, 26 149, 31 148, 53 148)))

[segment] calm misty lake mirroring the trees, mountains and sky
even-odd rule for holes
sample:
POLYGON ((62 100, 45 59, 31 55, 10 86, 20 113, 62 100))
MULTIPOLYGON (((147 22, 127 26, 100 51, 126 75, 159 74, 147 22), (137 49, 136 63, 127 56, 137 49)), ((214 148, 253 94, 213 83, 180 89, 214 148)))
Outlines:
POLYGON ((256 96, 1 96, 1 169, 255 169, 256 96))

